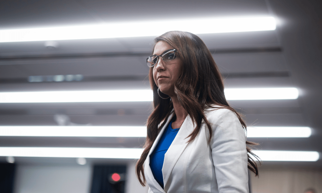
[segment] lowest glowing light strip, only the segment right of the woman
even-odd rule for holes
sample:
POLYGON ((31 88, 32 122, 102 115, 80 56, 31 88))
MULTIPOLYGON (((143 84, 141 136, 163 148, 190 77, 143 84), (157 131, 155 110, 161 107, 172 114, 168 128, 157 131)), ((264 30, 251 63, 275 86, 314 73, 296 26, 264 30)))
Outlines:
POLYGON ((252 150, 262 161, 316 162, 319 153, 316 151, 267 151, 252 150))

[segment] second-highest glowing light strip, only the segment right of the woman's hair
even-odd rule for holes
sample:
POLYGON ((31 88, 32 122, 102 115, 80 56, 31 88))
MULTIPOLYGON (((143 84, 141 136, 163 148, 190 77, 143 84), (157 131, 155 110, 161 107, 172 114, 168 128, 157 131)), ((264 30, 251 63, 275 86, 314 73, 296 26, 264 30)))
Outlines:
POLYGON ((226 88, 227 100, 297 99, 297 88, 226 88))

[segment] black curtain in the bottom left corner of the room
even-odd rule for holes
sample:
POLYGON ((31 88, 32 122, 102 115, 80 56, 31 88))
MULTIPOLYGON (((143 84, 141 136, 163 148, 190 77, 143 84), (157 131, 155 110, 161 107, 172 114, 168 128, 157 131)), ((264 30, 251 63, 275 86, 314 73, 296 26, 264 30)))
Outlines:
POLYGON ((0 163, 0 192, 14 192, 15 164, 0 163))

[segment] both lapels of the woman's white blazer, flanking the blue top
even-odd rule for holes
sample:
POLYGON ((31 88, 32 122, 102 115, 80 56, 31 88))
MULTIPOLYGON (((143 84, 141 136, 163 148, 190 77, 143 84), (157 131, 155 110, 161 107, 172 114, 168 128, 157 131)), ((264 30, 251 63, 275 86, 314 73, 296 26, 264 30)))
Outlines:
POLYGON ((162 167, 164 189, 162 189, 159 183, 155 180, 153 173, 151 171, 150 155, 152 154, 153 150, 156 148, 156 145, 158 144, 159 139, 161 138, 164 130, 167 128, 173 115, 174 113, 172 110, 172 113, 170 114, 169 118, 166 120, 166 124, 163 126, 160 133, 156 137, 156 140, 154 141, 147 155, 147 159, 144 165, 144 171, 147 174, 146 177, 148 178, 147 182, 149 182, 148 185, 155 193, 165 193, 169 189, 170 184, 167 184, 167 181, 170 177, 172 169, 175 166, 176 162, 178 161, 179 157, 181 156, 182 152, 185 150, 185 147, 188 145, 188 140, 189 140, 189 138, 187 138, 188 135, 190 135, 190 133, 192 133, 192 131, 194 130, 192 119, 188 115, 185 118, 185 121, 182 123, 177 135, 175 136, 175 139, 173 140, 173 142, 171 143, 169 149, 165 154, 163 167, 162 167))

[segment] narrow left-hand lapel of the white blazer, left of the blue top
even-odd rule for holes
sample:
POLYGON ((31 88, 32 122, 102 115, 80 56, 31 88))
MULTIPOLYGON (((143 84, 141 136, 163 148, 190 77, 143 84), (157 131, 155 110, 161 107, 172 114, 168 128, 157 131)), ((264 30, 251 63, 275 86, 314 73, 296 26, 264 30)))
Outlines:
MULTIPOLYGON (((173 111, 173 110, 172 110, 173 111)), ((174 113, 171 113, 169 118, 166 120, 166 124, 163 126, 163 128, 160 130, 158 136, 156 137, 156 140, 154 141, 149 153, 147 154, 147 159, 145 160, 144 163, 144 172, 147 174, 147 182, 149 187, 152 189, 154 193, 166 193, 164 189, 160 186, 160 184, 156 181, 156 179, 153 176, 153 173, 150 168, 150 155, 152 154, 153 150, 156 148, 156 145, 158 144, 164 130, 167 128, 170 120, 172 119, 174 113)), ((163 169, 162 169, 163 170, 163 169)), ((162 172, 163 173, 163 172, 162 172)), ((163 177, 164 179, 164 177, 163 177)))

